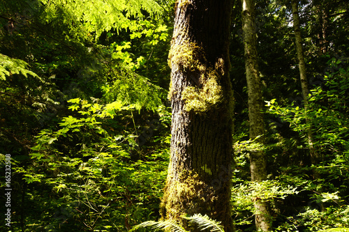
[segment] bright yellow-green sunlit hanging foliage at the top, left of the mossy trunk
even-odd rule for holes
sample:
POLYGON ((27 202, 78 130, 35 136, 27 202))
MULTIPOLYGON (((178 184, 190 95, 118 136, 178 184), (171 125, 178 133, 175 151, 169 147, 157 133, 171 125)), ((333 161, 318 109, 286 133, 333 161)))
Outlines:
POLYGON ((45 6, 43 20, 56 23, 57 15, 69 26, 70 32, 81 38, 98 38, 103 31, 117 32, 133 29, 132 17, 146 17, 160 13, 161 7, 153 0, 140 1, 47 1, 40 0, 45 6), (94 10, 91 10, 94 9, 94 10))

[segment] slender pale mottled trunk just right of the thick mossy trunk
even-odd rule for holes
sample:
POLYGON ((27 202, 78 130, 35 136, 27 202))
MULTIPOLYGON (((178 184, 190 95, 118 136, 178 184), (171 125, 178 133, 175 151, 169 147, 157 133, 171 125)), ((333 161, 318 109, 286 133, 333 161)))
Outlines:
MULTIPOLYGON (((258 70, 258 52, 255 27, 255 2, 242 0, 242 21, 244 31, 244 50, 246 80, 248 89, 248 118, 250 121, 250 139, 255 139, 260 144, 264 143, 262 135, 265 133, 262 115, 262 91, 260 74, 258 70)), ((260 182, 267 178, 267 162, 263 150, 250 152, 251 181, 260 182)), ((256 199, 255 226, 257 230, 270 231, 272 218, 270 217, 268 202, 256 199)))

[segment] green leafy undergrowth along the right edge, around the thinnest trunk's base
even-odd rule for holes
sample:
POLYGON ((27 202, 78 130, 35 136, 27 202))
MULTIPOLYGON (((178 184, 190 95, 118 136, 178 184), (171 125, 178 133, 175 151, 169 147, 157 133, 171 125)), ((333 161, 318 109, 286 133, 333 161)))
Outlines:
MULTIPOLYGON (((348 61, 329 60, 333 72, 327 72, 322 86, 315 86, 309 94, 309 109, 292 105, 281 107, 275 100, 268 103, 269 112, 277 114, 290 128, 304 139, 306 130, 314 134, 313 146, 322 154, 321 162, 312 167, 288 167, 284 169, 282 181, 293 183, 301 190, 312 192, 312 198, 319 208, 306 207, 299 212, 299 219, 291 219, 297 226, 305 226, 306 231, 319 231, 333 226, 348 225, 346 201, 341 196, 348 192, 348 61), (306 118, 309 120, 306 121, 306 118), (315 169, 320 179, 312 180, 309 171, 315 169), (303 173, 303 174, 301 174, 303 173), (320 193, 319 193, 320 192, 320 193), (341 192, 341 195, 339 195, 341 192)), ((281 227, 285 229, 284 227, 281 227)), ((282 229, 282 230, 283 230, 282 229)))

